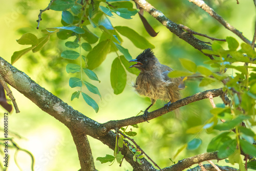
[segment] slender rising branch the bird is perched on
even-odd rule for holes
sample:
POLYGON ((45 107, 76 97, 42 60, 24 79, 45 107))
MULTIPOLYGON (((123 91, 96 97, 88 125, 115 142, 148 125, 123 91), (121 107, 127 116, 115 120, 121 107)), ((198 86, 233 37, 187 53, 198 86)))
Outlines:
MULTIPOLYGON (((212 97, 217 97, 217 96, 220 96, 222 94, 223 94, 222 88, 206 90, 204 92, 194 94, 192 96, 183 98, 181 100, 178 100, 178 101, 170 104, 168 106, 168 110, 167 110, 167 106, 164 106, 163 108, 160 108, 156 111, 148 113, 147 114, 147 120, 151 120, 151 119, 154 119, 156 117, 159 117, 163 114, 166 114, 170 111, 173 111, 173 110, 175 110, 177 108, 180 108, 181 106, 187 105, 189 103, 209 98, 210 95, 212 95, 212 97)), ((116 127, 123 127, 123 126, 127 126, 127 125, 141 123, 141 122, 144 122, 144 121, 145 120, 143 118, 143 115, 139 115, 139 116, 136 116, 136 117, 131 117, 131 118, 122 119, 122 120, 111 120, 111 121, 108 121, 106 123, 103 123, 102 126, 105 127, 106 130, 112 130, 112 129, 115 129, 116 127)))

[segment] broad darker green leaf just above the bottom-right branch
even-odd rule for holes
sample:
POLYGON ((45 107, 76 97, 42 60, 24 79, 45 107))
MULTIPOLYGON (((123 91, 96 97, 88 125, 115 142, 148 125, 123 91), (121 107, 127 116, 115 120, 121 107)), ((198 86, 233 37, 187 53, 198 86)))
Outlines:
POLYGON ((227 140, 220 147, 218 152, 218 157, 221 159, 225 159, 231 154, 233 154, 237 149, 237 141, 236 140, 227 140))

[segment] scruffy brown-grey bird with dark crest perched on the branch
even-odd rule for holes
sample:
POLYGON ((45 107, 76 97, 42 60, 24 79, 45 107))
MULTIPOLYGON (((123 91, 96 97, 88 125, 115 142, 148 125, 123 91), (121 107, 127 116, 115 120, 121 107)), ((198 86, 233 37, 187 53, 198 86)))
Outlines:
POLYGON ((145 49, 136 59, 132 59, 129 62, 137 62, 130 68, 135 67, 140 70, 133 87, 139 95, 151 99, 151 105, 148 106, 143 114, 145 121, 147 121, 148 109, 155 104, 157 99, 169 100, 165 104, 167 108, 170 103, 180 99, 179 91, 185 88, 183 78, 168 77, 168 73, 172 72, 173 69, 162 65, 151 48, 145 49))

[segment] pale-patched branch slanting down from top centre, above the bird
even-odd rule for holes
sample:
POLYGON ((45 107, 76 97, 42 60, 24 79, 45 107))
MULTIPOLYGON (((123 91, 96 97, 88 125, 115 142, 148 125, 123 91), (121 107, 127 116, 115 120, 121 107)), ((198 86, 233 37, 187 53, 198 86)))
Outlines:
MULTIPOLYGON (((146 2, 145 0, 134 0, 134 2, 138 4, 142 9, 144 9, 146 12, 150 13, 153 17, 155 17, 167 29, 169 29, 171 32, 176 34, 181 39, 188 42, 188 44, 190 44, 194 48, 198 49, 201 52, 202 52, 202 49, 211 50, 211 47, 206 45, 204 41, 201 41, 198 38, 194 37, 193 34, 185 32, 181 27, 179 27, 179 25, 172 22, 172 20, 167 18, 161 11, 157 10, 150 3, 146 2)), ((204 55, 212 58, 212 56, 209 54, 204 54, 204 55)))

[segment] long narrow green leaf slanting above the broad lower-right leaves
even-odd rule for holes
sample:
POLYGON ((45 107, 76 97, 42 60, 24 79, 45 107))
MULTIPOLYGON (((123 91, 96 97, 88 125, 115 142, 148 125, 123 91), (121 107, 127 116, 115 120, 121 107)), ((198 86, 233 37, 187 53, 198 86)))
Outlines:
POLYGON ((239 115, 233 120, 226 121, 224 123, 218 124, 214 126, 214 129, 219 130, 219 131, 226 131, 226 130, 231 130, 235 126, 239 125, 243 120, 250 119, 250 116, 246 115, 239 115))

